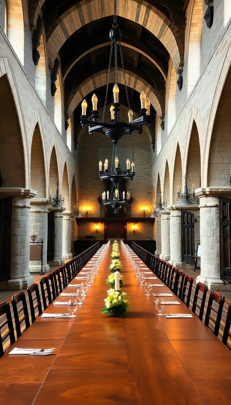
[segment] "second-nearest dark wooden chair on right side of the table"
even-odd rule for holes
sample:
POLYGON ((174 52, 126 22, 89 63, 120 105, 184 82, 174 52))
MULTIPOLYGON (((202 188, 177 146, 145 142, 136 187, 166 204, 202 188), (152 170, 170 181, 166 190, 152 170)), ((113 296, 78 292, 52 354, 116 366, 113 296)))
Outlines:
POLYGON ((210 330, 212 330, 212 328, 209 325, 209 322, 211 321, 214 324, 214 330, 212 330, 212 332, 216 336, 218 336, 218 333, 219 333, 220 320, 221 320, 224 303, 225 303, 225 297, 223 295, 219 294, 216 291, 210 292, 210 296, 208 299, 208 307, 206 310, 205 326, 207 326, 210 330), (218 304, 218 309, 216 309, 213 306, 214 302, 216 302, 218 304), (214 318, 211 315, 211 311, 214 311, 216 313, 216 318, 214 318))

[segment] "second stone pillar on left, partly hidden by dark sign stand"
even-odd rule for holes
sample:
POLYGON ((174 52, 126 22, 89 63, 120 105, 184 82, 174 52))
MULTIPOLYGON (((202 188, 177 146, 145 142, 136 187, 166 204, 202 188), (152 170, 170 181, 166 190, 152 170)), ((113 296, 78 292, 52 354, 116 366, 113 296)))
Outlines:
MULTIPOLYGON (((47 205, 46 198, 33 198, 30 201, 30 234, 38 235, 38 239, 43 239, 42 271, 49 273, 50 266, 47 264, 47 205)), ((30 273, 41 271, 40 261, 30 261, 30 273)))

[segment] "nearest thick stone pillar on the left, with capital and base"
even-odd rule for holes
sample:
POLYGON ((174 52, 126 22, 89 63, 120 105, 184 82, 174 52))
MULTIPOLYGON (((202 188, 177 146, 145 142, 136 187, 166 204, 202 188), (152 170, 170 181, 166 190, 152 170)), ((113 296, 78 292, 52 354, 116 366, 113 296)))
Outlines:
POLYGON ((11 278, 0 283, 0 290, 22 290, 34 281, 30 275, 30 199, 36 191, 0 188, 1 197, 12 196, 11 278))

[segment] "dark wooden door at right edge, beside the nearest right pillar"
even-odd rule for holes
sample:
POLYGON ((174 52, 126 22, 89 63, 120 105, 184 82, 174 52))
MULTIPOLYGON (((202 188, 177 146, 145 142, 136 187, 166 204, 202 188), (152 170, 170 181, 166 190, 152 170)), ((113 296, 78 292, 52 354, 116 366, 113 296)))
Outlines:
POLYGON ((219 198, 220 278, 231 281, 231 200, 219 198))

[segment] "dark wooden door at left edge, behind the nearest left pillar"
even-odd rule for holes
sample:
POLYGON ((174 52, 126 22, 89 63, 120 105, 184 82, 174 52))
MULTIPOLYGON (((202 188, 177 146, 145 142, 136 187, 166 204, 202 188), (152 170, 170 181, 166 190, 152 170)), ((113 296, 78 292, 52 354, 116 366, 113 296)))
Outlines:
POLYGON ((12 197, 0 199, 0 281, 11 278, 12 197))

